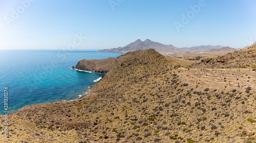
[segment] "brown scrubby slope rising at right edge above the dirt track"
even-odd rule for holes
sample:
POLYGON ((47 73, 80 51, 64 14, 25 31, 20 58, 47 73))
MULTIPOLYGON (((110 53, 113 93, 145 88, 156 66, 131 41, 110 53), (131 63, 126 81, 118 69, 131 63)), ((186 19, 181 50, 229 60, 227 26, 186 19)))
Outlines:
POLYGON ((246 49, 229 52, 218 58, 208 58, 190 68, 256 68, 256 44, 246 49))

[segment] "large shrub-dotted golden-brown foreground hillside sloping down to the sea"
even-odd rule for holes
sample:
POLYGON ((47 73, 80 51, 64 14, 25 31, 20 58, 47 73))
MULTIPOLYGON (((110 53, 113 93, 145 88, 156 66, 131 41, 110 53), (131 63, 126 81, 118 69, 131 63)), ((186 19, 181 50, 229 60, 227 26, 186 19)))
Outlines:
POLYGON ((252 141, 255 79, 248 69, 179 69, 154 49, 144 50, 79 100, 19 109, 9 117, 8 142, 252 141))

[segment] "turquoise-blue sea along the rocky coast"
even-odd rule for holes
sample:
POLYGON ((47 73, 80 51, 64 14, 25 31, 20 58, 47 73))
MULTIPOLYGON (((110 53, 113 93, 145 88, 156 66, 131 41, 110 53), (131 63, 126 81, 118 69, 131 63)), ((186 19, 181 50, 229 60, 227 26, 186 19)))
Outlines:
POLYGON ((0 50, 0 115, 31 104, 79 99, 103 74, 71 67, 83 59, 116 58, 121 54, 95 50, 0 50))

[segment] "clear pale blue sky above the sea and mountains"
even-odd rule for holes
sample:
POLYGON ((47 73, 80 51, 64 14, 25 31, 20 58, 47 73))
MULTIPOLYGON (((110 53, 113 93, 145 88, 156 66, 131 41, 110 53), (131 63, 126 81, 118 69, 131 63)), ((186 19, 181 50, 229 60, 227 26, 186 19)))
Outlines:
POLYGON ((256 41, 254 0, 0 1, 0 49, 105 49, 150 39, 178 48, 256 41))

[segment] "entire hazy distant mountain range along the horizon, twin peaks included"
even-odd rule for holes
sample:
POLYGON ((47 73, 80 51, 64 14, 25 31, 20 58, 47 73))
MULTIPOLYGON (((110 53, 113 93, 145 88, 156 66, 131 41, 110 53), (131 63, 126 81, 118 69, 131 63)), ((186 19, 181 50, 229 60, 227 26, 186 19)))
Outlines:
POLYGON ((224 46, 212 46, 212 45, 201 45, 201 46, 193 46, 193 47, 183 47, 183 48, 177 48, 173 45, 164 45, 158 42, 151 41, 149 39, 146 39, 145 41, 141 41, 140 39, 136 40, 135 42, 132 42, 124 47, 118 47, 118 48, 111 48, 111 49, 101 49, 98 50, 99 52, 120 52, 125 53, 129 51, 136 51, 136 50, 146 50, 146 49, 155 49, 161 54, 177 54, 177 53, 198 53, 198 52, 204 52, 204 53, 228 53, 233 52, 234 48, 226 47, 223 49, 224 46), (220 50, 216 50, 220 49, 220 50))

